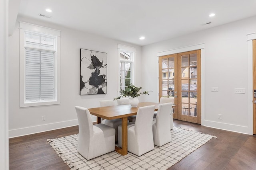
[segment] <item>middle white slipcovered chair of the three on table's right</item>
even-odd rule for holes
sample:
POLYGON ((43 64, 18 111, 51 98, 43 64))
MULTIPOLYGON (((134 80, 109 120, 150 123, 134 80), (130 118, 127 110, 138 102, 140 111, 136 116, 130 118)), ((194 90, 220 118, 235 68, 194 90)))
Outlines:
POLYGON ((161 147, 172 140, 170 132, 170 110, 173 103, 160 104, 156 119, 153 121, 154 145, 161 147))

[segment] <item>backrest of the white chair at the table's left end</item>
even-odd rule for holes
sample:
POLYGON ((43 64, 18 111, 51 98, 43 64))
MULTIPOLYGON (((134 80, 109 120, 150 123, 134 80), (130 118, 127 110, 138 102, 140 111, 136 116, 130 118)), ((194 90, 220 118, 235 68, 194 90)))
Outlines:
POLYGON ((79 133, 83 134, 84 137, 92 137, 93 125, 90 111, 84 107, 75 106, 76 114, 78 118, 78 129, 79 133))

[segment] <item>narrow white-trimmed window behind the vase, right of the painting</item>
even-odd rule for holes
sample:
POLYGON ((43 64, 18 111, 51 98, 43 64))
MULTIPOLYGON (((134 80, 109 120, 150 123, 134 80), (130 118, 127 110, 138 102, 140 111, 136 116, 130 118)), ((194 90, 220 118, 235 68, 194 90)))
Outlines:
POLYGON ((119 91, 125 90, 128 84, 134 83, 134 57, 136 49, 124 45, 118 45, 118 60, 119 60, 119 72, 118 72, 118 87, 119 91))

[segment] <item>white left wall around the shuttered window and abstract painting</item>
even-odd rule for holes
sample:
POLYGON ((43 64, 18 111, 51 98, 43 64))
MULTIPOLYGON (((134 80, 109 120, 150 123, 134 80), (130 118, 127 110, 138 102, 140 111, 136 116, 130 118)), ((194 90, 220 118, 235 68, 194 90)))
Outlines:
MULTIPOLYGON (((118 43, 136 48, 135 70, 140 68, 141 47, 76 31, 54 24, 21 18, 36 25, 50 27, 61 31, 60 38, 60 105, 19 107, 19 29, 18 22, 12 36, 9 37, 9 133, 10 137, 48 131, 62 127, 77 125, 74 106, 87 108, 99 107, 99 100, 113 99, 118 91, 118 43), (80 48, 108 53, 107 94, 79 95, 80 90, 80 48), (41 121, 41 116, 46 121, 41 121)), ((135 84, 140 86, 141 75, 136 74, 135 84)), ((96 118, 93 117, 94 121, 96 118)))

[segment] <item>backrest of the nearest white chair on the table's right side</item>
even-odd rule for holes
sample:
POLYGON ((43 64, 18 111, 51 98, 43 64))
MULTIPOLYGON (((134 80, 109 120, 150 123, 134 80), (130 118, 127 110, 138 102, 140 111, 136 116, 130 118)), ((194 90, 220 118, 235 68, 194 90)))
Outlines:
POLYGON ((144 106, 138 109, 135 121, 135 134, 143 138, 145 135, 152 133, 153 116, 155 106, 144 106))

